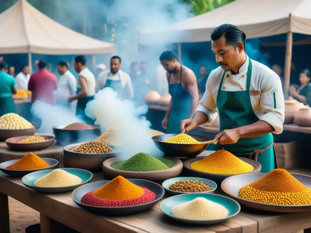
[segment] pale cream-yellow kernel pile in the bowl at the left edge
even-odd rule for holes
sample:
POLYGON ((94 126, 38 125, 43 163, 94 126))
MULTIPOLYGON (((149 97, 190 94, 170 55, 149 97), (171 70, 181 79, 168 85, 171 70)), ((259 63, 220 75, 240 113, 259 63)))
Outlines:
POLYGON ((7 113, 0 117, 0 129, 3 130, 23 130, 33 127, 24 117, 16 113, 7 113))

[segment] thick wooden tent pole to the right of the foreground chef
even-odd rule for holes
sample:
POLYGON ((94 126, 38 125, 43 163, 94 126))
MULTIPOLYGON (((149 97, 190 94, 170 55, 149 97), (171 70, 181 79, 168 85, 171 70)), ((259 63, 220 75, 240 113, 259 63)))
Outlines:
POLYGON ((293 50, 293 33, 287 33, 286 39, 286 51, 285 51, 285 65, 284 65, 284 94, 285 99, 288 98, 288 89, 290 86, 290 70, 291 70, 291 58, 293 50))

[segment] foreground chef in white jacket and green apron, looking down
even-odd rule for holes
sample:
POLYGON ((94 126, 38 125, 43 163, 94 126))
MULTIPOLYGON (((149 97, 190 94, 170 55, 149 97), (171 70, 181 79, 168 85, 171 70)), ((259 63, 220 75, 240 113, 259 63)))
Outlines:
POLYGON ((270 172, 277 167, 272 133, 283 131, 282 85, 274 71, 245 54, 245 38, 231 24, 212 32, 212 53, 220 67, 209 75, 193 119, 183 120, 180 129, 189 132, 213 121, 218 112, 221 132, 214 140, 236 156, 258 160, 261 171, 270 172))

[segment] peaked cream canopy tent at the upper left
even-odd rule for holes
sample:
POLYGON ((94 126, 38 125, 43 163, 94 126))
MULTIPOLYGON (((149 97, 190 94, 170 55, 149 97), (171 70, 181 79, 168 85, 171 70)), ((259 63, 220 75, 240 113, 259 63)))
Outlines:
POLYGON ((0 54, 49 55, 114 53, 115 44, 71 30, 19 0, 0 14, 0 54))

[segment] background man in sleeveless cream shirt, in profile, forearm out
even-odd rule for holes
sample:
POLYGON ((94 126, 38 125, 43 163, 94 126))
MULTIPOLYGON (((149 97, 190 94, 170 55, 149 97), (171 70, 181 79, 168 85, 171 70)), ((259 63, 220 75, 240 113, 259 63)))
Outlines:
POLYGON ((86 67, 86 57, 79 55, 73 62, 75 70, 79 73, 77 83, 77 94, 68 98, 68 102, 77 99, 77 113, 86 124, 94 124, 95 120, 85 114, 86 104, 94 99, 96 80, 93 73, 86 67))

